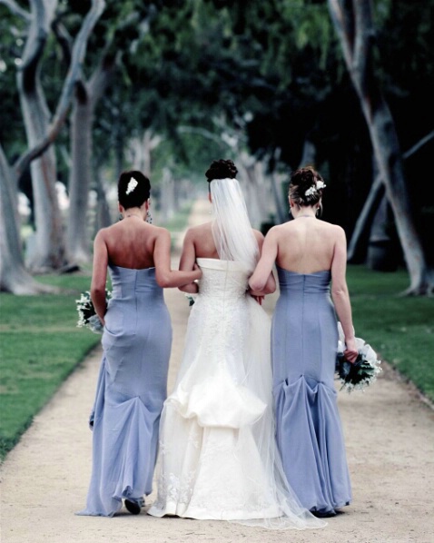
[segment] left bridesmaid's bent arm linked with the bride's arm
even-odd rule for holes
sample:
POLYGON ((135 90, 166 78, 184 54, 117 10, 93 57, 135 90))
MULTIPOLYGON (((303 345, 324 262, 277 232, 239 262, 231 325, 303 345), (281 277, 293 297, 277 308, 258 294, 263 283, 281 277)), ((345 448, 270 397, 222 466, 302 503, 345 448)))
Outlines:
POLYGON ((202 271, 194 264, 189 271, 175 271, 171 268, 171 235, 164 228, 158 232, 153 248, 153 262, 155 263, 155 277, 157 283, 163 287, 182 287, 201 279, 202 271))

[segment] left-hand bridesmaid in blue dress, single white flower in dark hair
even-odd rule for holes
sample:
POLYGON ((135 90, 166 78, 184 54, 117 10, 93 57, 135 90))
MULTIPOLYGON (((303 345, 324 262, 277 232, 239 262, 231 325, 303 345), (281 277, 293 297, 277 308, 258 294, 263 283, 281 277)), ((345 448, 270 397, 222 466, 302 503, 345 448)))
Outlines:
POLYGON ((93 428, 93 469, 87 504, 78 515, 133 514, 152 491, 158 429, 166 398, 172 325, 163 287, 200 279, 172 271, 170 233, 145 222, 151 184, 141 172, 123 172, 118 182, 123 221, 97 233, 91 296, 104 324, 104 356, 98 377, 93 428), (106 305, 107 269, 113 297, 106 305))

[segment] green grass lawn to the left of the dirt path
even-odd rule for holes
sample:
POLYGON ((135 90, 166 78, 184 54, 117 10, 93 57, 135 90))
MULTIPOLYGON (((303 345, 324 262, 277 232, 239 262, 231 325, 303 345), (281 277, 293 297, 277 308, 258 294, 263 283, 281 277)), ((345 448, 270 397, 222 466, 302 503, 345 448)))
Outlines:
POLYGON ((64 379, 101 340, 76 327, 75 300, 90 275, 46 276, 63 294, 0 293, 0 459, 64 379))

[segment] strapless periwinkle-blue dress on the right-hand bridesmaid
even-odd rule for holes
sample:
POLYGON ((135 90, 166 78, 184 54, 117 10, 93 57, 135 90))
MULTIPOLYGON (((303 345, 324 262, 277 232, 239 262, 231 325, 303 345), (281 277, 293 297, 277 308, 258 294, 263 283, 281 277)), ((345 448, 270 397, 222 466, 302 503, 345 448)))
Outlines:
POLYGON ((330 271, 277 271, 271 358, 278 447, 301 504, 332 515, 350 503, 351 487, 334 386, 338 329, 330 271))

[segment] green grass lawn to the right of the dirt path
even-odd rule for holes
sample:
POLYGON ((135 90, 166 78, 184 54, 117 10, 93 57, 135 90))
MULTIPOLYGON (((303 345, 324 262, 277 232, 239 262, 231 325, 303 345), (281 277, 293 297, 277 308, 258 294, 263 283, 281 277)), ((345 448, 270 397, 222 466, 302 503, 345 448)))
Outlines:
POLYGON ((350 266, 348 284, 356 336, 434 401, 434 298, 399 296, 406 271, 350 266))

